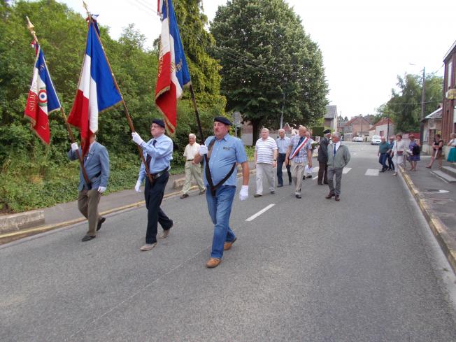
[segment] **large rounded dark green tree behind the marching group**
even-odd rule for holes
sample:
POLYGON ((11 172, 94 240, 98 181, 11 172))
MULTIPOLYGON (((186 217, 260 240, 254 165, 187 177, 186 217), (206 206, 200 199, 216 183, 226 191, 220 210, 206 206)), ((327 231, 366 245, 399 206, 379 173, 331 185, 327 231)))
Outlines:
POLYGON ((211 23, 213 55, 222 69, 221 92, 230 111, 253 126, 315 124, 325 115, 327 83, 318 45, 283 0, 233 0, 211 23))

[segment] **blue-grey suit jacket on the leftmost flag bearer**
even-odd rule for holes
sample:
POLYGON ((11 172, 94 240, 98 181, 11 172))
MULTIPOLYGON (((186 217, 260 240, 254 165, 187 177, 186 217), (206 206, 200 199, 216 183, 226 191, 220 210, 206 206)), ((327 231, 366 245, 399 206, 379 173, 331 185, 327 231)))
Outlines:
MULTIPOLYGON (((81 150, 79 148, 79 153, 81 150)), ((70 160, 76 160, 76 152, 69 150, 68 158, 70 160)), ((87 172, 87 176, 92 182, 92 190, 97 190, 98 187, 108 187, 108 178, 109 178, 109 155, 108 150, 98 143, 94 142, 92 148, 87 153, 87 156, 84 158, 84 167, 87 172)), ((78 190, 82 191, 84 189, 85 180, 83 176, 83 171, 79 171, 79 187, 78 190)))

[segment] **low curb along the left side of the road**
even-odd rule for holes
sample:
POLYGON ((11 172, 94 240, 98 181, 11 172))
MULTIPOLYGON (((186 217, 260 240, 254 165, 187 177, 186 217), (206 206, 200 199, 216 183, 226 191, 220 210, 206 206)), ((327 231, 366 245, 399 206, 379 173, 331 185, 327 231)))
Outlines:
MULTIPOLYGON (((250 170, 250 174, 253 174, 255 172, 256 172, 255 169, 250 170)), ((242 173, 239 172, 237 174, 237 176, 239 178, 239 176, 242 176, 242 173)), ((198 189, 197 185, 193 185, 192 187, 190 187, 190 190, 197 190, 197 189, 198 189)), ((180 194, 180 192, 181 192, 181 190, 175 191, 175 192, 170 192, 169 194, 164 194, 163 198, 167 199, 169 197, 176 196, 176 195, 180 194)), ((131 208, 135 208, 135 207, 143 206, 143 205, 145 205, 145 201, 138 201, 133 204, 127 204, 126 206, 112 208, 112 209, 109 209, 108 211, 103 211, 99 214, 108 215, 111 213, 116 213, 117 211, 124 211, 127 209, 131 209, 131 208)), ((0 234, 0 245, 2 245, 3 243, 8 243, 12 240, 17 240, 18 238, 23 238, 23 237, 29 236, 29 235, 40 234, 40 233, 44 233, 45 231, 63 228, 63 227, 67 227, 70 225, 76 225, 76 223, 84 222, 85 220, 87 220, 87 219, 82 217, 82 218, 76 218, 74 220, 59 222, 54 225, 44 225, 44 226, 40 226, 40 227, 36 227, 36 228, 21 229, 21 230, 13 231, 13 232, 6 233, 6 234, 0 234), (2 242, 2 240, 6 240, 6 242, 2 242)))

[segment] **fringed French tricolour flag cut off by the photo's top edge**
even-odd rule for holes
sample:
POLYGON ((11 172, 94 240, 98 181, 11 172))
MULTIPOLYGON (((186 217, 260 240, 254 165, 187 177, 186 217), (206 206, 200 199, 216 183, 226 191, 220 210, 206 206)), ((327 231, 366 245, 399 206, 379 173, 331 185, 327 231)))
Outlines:
POLYGON ((177 126, 177 100, 182 96, 184 86, 190 83, 190 72, 172 1, 158 0, 158 13, 162 17, 162 34, 155 104, 163 114, 166 127, 173 133, 177 126))

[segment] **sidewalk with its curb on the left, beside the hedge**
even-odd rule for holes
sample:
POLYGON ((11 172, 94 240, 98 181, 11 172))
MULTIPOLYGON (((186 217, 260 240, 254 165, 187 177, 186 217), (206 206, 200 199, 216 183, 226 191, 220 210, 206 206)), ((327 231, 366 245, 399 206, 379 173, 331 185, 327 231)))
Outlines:
MULTIPOLYGON (((255 163, 249 162, 249 169, 250 171, 255 170, 255 163)), ((240 170, 241 167, 238 168, 238 171, 240 170)), ((238 176, 241 176, 241 173, 238 173, 238 176)), ((185 175, 182 174, 170 176, 164 191, 164 199, 181 194, 183 180, 185 180, 185 175), (175 182, 178 184, 177 189, 173 188, 175 182)), ((133 187, 134 184, 131 186, 131 190, 113 192, 102 196, 99 203, 99 213, 101 215, 108 215, 117 211, 143 206, 144 187, 141 187, 141 193, 135 192, 133 187)), ((196 185, 192 186, 190 196, 198 196, 198 192, 194 190, 197 190, 196 185)), ((41 210, 44 211, 44 225, 0 234, 0 245, 25 236, 39 234, 85 221, 83 215, 78 211, 78 201, 57 204, 56 206, 43 208, 41 210)))

